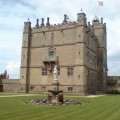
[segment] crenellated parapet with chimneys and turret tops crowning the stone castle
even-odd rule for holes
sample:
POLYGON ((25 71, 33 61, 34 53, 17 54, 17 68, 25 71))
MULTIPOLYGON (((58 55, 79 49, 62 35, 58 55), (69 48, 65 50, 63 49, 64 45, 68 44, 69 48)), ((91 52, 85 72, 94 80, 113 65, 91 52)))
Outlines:
POLYGON ((91 31, 94 31, 93 28, 106 28, 106 24, 103 23, 103 18, 101 18, 101 22, 97 17, 94 18, 92 21, 92 24, 90 22, 87 23, 86 15, 85 13, 78 13, 77 14, 77 20, 76 21, 70 21, 69 17, 65 14, 64 19, 62 23, 58 24, 50 24, 50 18, 47 17, 47 22, 44 23, 44 18, 41 19, 41 24, 39 24, 39 19, 36 19, 36 25, 35 27, 31 28, 31 22, 25 22, 24 28, 30 27, 32 32, 42 32, 42 31, 51 31, 51 30, 63 30, 63 29, 72 29, 78 26, 85 26, 86 28, 89 28, 91 31), (28 24, 27 24, 28 23, 28 24))

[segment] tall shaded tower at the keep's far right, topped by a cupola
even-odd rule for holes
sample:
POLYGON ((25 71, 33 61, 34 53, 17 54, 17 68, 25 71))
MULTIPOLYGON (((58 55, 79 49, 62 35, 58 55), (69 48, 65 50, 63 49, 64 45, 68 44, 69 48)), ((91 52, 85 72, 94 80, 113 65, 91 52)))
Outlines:
POLYGON ((107 80, 107 48, 106 48, 106 24, 103 24, 103 18, 101 21, 95 16, 92 21, 93 31, 97 37, 98 47, 98 87, 105 91, 107 80))

